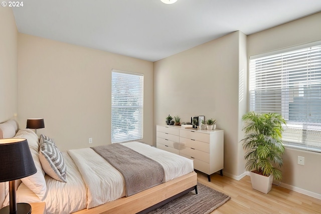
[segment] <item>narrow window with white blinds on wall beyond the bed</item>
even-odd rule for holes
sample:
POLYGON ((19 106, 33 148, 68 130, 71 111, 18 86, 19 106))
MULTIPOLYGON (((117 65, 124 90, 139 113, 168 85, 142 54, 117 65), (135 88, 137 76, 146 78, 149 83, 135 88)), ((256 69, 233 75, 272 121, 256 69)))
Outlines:
POLYGON ((142 139, 142 74, 111 72, 111 142, 142 139))

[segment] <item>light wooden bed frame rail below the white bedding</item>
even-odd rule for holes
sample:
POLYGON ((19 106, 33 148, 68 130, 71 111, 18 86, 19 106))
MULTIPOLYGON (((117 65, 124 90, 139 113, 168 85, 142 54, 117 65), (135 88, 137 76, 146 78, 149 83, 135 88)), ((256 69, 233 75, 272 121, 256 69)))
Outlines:
POLYGON ((75 214, 106 214, 106 213, 145 213, 193 189, 197 191, 197 174, 191 172, 152 188, 138 192, 129 197, 74 212, 75 214))

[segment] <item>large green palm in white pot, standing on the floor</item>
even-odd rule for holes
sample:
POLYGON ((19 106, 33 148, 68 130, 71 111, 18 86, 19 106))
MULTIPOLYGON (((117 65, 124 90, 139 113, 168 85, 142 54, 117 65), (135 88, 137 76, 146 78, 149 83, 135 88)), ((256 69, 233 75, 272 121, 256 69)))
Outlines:
POLYGON ((282 125, 286 124, 276 113, 258 114, 247 112, 243 115, 245 138, 242 140, 246 151, 245 168, 250 171, 252 188, 268 193, 273 178, 280 181, 283 165, 282 125))

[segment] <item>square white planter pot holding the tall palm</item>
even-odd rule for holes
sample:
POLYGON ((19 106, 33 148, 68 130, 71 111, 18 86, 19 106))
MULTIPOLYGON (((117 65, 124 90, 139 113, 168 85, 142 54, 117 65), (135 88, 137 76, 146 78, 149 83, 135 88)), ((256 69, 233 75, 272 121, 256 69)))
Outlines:
POLYGON ((273 175, 264 176, 250 172, 252 188, 267 194, 272 188, 273 175))

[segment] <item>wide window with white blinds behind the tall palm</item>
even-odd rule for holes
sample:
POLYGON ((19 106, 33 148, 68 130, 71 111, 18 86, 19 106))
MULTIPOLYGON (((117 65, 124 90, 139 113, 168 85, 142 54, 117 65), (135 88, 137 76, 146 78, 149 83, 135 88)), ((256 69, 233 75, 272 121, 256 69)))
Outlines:
POLYGON ((321 152, 321 45, 250 58, 250 110, 287 122, 283 143, 321 152))

